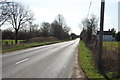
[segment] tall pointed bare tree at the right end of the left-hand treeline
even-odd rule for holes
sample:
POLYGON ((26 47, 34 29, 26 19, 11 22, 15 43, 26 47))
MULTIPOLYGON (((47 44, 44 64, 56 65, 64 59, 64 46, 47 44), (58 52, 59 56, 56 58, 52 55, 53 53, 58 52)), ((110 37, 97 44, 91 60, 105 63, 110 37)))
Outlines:
POLYGON ((58 39, 67 39, 70 28, 66 25, 64 17, 59 14, 51 24, 52 35, 58 39))

